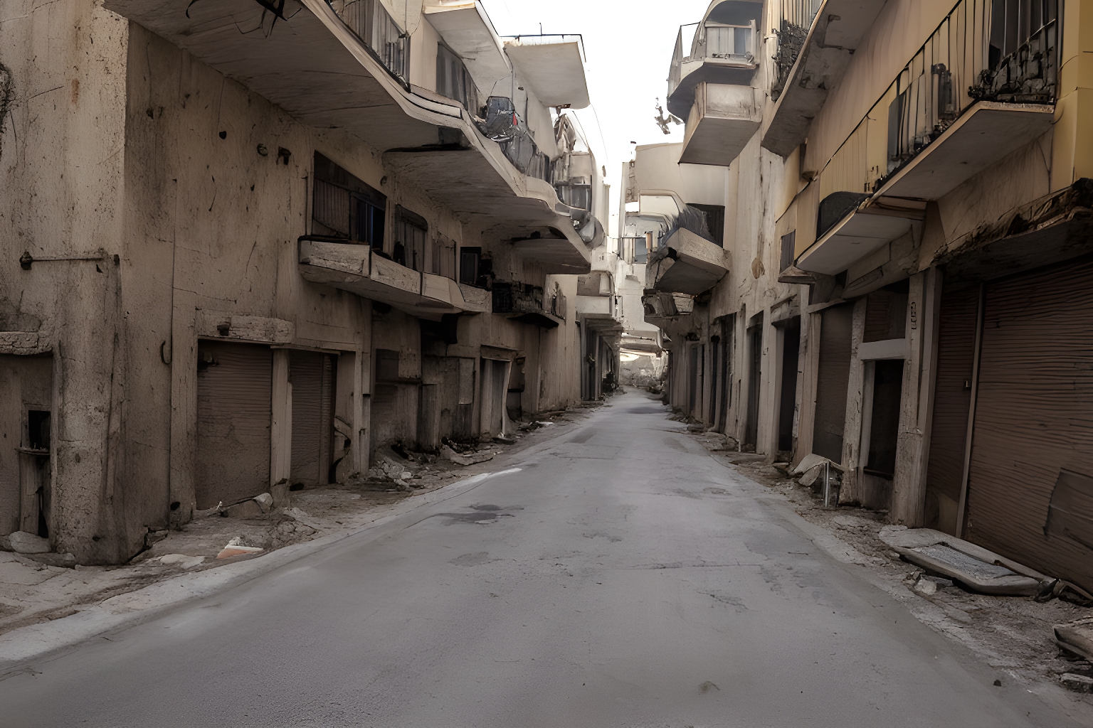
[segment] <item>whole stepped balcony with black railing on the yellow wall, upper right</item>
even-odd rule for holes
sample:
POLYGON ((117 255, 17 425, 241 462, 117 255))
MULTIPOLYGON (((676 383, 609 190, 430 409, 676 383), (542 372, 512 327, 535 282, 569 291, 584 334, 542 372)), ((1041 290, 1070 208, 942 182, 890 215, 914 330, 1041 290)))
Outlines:
POLYGON ((1058 20, 1032 21, 1007 33, 982 3, 952 10, 821 172, 818 240, 798 268, 841 273, 905 235, 927 202, 1050 130, 1058 20), (853 204, 835 204, 844 198, 853 204))

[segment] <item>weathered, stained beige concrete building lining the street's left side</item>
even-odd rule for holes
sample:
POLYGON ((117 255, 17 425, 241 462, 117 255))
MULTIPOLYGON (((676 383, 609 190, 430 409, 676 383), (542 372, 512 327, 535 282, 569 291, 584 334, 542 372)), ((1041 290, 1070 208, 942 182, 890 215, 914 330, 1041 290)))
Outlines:
POLYGON ((474 0, 14 5, 0 534, 117 563, 579 401, 579 36, 501 38, 474 0))

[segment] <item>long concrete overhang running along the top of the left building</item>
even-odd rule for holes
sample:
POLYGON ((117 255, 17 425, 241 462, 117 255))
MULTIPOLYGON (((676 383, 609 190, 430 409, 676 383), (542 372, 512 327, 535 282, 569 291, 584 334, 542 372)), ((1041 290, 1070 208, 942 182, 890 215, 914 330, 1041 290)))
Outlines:
POLYGON ((403 87, 324 0, 286 0, 285 20, 272 24, 272 15, 254 0, 192 5, 190 0, 105 0, 104 7, 302 123, 344 129, 388 152, 385 160, 456 212, 495 217, 509 237, 554 227, 587 259, 585 242, 573 230, 568 211, 556 210, 561 203, 549 183, 520 174, 456 102, 403 87), (440 143, 443 132, 453 129, 461 132, 459 151, 440 143), (459 155, 458 164, 451 155, 459 155))

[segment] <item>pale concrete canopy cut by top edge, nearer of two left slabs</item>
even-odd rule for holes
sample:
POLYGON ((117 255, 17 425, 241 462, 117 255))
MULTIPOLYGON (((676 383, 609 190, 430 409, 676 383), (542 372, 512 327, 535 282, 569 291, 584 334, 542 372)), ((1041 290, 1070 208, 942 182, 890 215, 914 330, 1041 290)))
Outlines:
POLYGON ((489 91, 510 70, 505 48, 493 24, 477 0, 458 4, 426 5, 425 17, 444 43, 463 59, 479 88, 489 91))

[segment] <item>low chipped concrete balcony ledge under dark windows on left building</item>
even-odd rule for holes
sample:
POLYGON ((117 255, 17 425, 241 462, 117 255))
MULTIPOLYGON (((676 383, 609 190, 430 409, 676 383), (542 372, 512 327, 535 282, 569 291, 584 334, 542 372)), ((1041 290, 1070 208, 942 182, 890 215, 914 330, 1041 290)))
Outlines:
POLYGON ((313 283, 387 303, 421 319, 445 313, 489 313, 486 290, 411 270, 353 242, 301 238, 299 272, 313 283))

